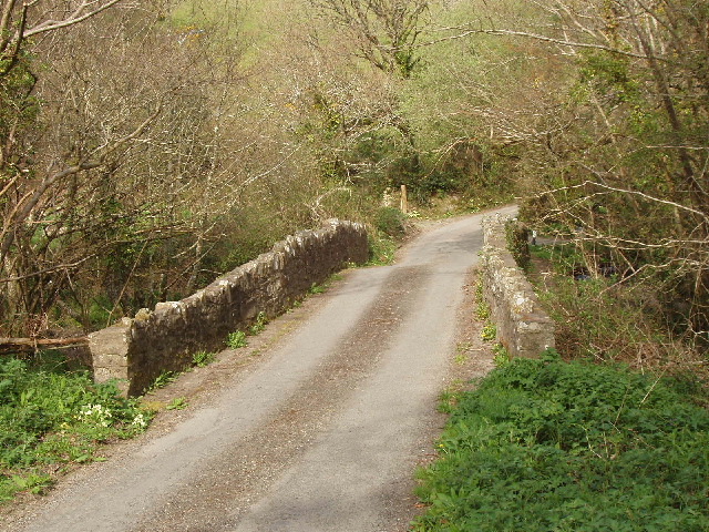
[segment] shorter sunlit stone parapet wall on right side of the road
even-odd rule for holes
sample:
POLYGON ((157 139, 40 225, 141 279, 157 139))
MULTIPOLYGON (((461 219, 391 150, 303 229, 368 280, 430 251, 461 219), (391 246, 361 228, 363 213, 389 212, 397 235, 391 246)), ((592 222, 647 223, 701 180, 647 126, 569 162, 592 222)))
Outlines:
POLYGON ((506 216, 483 219, 483 297, 500 341, 512 357, 536 358, 554 347, 554 321, 542 310, 532 285, 507 250, 506 216))

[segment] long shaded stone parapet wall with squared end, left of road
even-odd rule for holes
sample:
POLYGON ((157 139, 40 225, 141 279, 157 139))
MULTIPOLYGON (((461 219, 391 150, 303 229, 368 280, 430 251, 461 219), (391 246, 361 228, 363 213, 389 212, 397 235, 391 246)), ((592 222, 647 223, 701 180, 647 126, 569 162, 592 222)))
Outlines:
POLYGON ((140 395, 162 372, 183 370, 195 352, 223 349, 229 332, 245 330, 260 313, 278 316, 314 284, 348 263, 367 262, 368 254, 361 224, 332 219, 289 236, 185 299, 91 334, 94 379, 119 379, 123 392, 140 395))

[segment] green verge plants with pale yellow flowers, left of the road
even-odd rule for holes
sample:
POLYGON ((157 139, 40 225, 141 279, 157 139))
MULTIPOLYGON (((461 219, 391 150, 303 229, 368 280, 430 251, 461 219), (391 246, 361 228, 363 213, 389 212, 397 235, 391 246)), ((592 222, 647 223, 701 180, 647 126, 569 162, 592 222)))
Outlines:
POLYGON ((68 370, 62 357, 0 359, 0 502, 40 493, 101 443, 143 432, 150 413, 113 383, 68 370))

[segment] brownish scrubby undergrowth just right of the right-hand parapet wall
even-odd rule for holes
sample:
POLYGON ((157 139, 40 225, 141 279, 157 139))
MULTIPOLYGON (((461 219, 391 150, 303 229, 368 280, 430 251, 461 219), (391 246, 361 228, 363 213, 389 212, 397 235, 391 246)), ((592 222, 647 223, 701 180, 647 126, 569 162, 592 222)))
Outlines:
POLYGON ((573 242, 530 250, 526 270, 554 319, 556 349, 565 360, 588 358, 709 377, 706 342, 678 327, 682 319, 668 311, 657 283, 639 275, 624 278, 573 242), (588 267, 594 262, 602 265, 596 272, 588 267))

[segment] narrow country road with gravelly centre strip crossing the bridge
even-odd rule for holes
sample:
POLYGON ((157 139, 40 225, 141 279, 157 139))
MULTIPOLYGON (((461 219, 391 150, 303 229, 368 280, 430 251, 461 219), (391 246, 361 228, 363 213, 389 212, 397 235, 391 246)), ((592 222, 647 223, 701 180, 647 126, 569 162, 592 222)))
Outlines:
POLYGON ((429 227, 394 266, 343 273, 307 309, 269 324, 248 360, 225 351, 187 374, 199 388, 187 409, 11 512, 1 530, 407 530, 412 474, 441 424, 436 397, 456 371, 481 218, 429 227))

